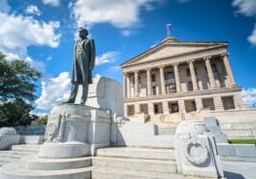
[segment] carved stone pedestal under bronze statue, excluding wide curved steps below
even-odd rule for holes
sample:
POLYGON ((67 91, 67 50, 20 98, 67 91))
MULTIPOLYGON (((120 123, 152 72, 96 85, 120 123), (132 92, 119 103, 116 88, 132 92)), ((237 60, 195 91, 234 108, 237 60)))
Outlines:
POLYGON ((58 158, 57 151, 61 150, 77 154, 65 156, 62 153, 64 156, 59 158, 93 156, 97 147, 110 145, 110 127, 109 110, 77 104, 55 106, 48 120, 46 142, 41 146, 39 157, 58 158), (49 156, 47 151, 51 153, 49 156))

